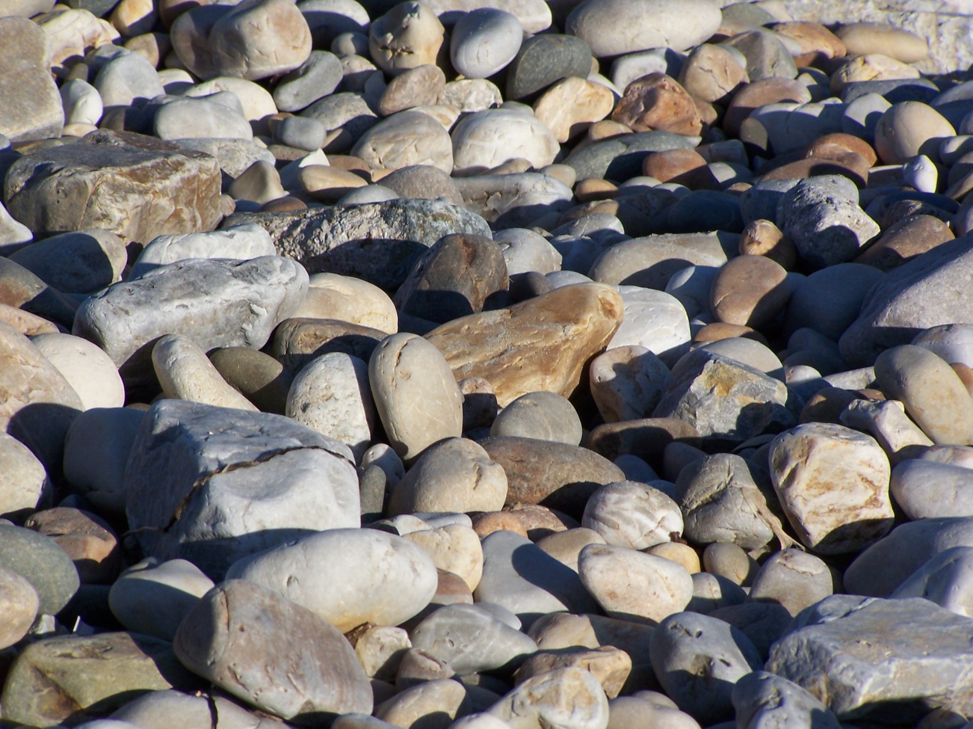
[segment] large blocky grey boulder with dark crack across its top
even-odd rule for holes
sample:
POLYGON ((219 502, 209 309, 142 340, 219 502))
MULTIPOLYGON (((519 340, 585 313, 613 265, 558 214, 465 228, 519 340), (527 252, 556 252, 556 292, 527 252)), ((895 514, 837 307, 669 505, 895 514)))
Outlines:
POLYGON ((360 524, 346 445, 281 415, 185 400, 160 400, 142 420, 125 491, 145 554, 214 578, 285 539, 360 524))

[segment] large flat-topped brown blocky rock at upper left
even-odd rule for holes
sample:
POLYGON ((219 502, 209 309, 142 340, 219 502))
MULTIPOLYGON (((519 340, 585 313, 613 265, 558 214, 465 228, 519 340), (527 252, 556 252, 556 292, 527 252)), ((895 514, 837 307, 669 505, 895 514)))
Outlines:
POLYGON ((220 222, 220 165, 154 137, 98 130, 21 156, 4 180, 7 209, 34 233, 100 227, 126 243, 211 230, 220 222))

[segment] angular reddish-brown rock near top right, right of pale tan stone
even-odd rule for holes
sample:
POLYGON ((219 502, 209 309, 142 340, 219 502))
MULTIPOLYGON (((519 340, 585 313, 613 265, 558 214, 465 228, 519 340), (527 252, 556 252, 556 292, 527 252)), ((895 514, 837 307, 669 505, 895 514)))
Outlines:
POLYGON ((689 135, 703 131, 693 97, 679 82, 663 73, 631 82, 611 118, 633 131, 661 129, 689 135))

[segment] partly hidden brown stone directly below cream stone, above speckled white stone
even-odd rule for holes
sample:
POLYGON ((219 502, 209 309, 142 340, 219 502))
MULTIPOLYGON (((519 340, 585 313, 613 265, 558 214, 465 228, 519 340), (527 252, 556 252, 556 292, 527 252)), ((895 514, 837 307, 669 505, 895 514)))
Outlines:
POLYGON ((295 317, 285 319, 273 330, 268 351, 295 373, 315 357, 329 352, 343 352, 368 362, 385 336, 384 331, 337 319, 295 317))

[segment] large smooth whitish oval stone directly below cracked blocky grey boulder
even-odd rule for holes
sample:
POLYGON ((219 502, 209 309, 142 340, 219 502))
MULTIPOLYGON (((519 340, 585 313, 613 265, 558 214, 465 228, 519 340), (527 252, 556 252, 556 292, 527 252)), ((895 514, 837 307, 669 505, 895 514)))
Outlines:
POLYGON ((330 529, 234 563, 245 579, 315 612, 342 633, 398 625, 436 592, 432 559, 408 539, 371 529, 330 529))

